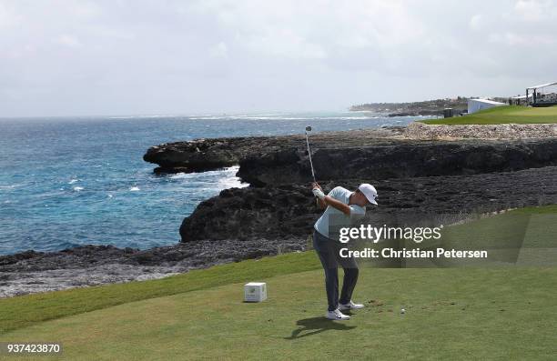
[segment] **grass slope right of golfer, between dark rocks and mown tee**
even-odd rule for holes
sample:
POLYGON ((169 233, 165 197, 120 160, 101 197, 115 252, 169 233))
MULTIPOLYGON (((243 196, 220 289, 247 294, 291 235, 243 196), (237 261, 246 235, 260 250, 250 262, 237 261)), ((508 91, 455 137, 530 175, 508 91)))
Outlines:
MULTIPOLYGON (((449 220, 449 223, 460 219, 449 220)), ((447 224, 444 221, 436 222, 447 224)), ((475 215, 465 223, 445 226, 441 239, 415 243, 411 239, 389 240, 373 244, 362 242, 359 248, 419 248, 436 251, 438 247, 458 250, 486 250, 487 258, 414 258, 404 266, 552 266, 557 259, 557 206, 531 206, 514 209, 495 216, 475 215)), ((366 259, 371 266, 394 266, 396 259, 366 259)))

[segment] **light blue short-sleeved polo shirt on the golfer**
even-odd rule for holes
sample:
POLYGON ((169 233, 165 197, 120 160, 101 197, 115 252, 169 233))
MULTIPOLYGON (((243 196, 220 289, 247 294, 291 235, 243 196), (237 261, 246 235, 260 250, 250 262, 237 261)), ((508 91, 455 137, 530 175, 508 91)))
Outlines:
MULTIPOLYGON (((342 187, 336 186, 334 187, 327 196, 331 196, 340 202, 344 203, 345 205, 349 204, 350 195, 352 194, 351 191, 342 187)), ((332 239, 339 239, 339 234, 337 232, 336 235, 329 235, 329 228, 330 229, 339 229, 345 226, 351 226, 357 219, 366 215, 366 208, 357 205, 350 205, 350 216, 345 215, 344 213, 340 212, 337 208, 333 206, 327 206, 323 215, 321 215, 318 221, 315 223, 314 228, 323 236, 332 238, 332 239)))

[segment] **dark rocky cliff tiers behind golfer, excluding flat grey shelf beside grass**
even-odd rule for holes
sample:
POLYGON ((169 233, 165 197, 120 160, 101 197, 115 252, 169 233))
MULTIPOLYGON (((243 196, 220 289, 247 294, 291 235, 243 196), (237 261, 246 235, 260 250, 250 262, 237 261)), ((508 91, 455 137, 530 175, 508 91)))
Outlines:
MULTIPOLYGON (((374 213, 385 217, 557 203, 556 138, 416 139, 405 136, 409 128, 311 135, 319 182, 329 189, 372 183, 380 194, 374 213)), ((303 135, 159 145, 146 160, 168 172, 239 164, 238 176, 251 185, 197 206, 180 226, 183 242, 302 239, 319 216, 303 135)))

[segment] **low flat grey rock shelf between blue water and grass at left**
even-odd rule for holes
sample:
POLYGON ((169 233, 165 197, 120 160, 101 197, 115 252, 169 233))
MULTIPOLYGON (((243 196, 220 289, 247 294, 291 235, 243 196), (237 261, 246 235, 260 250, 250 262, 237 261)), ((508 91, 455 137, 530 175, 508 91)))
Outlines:
POLYGON ((0 256, 0 297, 172 276, 243 259, 303 251, 306 237, 203 240, 147 250, 77 246, 0 256))

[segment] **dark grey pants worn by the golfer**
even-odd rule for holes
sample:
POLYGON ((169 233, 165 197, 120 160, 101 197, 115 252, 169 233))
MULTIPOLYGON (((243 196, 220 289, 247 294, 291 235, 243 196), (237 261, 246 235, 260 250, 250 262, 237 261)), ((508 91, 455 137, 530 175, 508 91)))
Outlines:
POLYGON ((339 303, 348 304, 352 298, 352 292, 358 281, 358 265, 354 257, 343 258, 339 255, 340 248, 345 244, 321 235, 313 231, 313 248, 317 252, 323 270, 325 271, 325 290, 327 291, 327 302, 329 311, 339 307, 339 303), (339 265, 344 269, 344 281, 339 299, 339 265))

